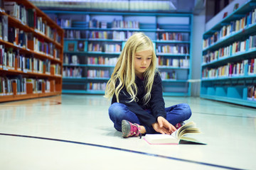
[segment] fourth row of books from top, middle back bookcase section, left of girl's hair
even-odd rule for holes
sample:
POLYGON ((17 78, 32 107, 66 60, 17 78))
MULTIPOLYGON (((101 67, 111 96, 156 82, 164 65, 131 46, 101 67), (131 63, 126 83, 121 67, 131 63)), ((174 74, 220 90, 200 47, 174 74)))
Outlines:
POLYGON ((117 59, 117 57, 87 57, 87 64, 115 65, 117 64, 117 59))

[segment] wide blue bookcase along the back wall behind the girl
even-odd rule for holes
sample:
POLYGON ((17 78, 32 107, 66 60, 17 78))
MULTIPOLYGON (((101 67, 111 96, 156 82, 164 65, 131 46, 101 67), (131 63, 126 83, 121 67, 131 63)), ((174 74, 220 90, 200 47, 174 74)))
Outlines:
POLYGON ((127 39, 154 42, 165 96, 190 96, 191 13, 44 11, 65 30, 63 93, 104 94, 127 39))

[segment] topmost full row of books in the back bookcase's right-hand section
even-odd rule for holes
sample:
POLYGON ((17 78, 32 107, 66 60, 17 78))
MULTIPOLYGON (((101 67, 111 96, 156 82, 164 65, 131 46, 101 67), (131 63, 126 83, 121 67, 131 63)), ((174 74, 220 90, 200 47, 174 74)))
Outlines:
POLYGON ((188 33, 156 33, 157 40, 176 40, 176 41, 188 41, 188 33))

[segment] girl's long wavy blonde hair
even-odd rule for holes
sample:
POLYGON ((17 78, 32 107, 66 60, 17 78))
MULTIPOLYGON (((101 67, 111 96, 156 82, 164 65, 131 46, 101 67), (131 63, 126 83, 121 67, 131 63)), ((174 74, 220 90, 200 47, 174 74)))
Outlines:
POLYGON ((119 93, 122 88, 127 89, 130 99, 132 101, 137 101, 137 85, 135 84, 135 69, 134 69, 134 55, 136 52, 142 52, 145 50, 152 51, 151 64, 149 68, 144 72, 144 81, 146 82, 146 94, 143 98, 143 103, 149 102, 151 98, 151 89, 154 82, 154 75, 156 70, 156 54, 154 52, 154 45, 150 38, 144 35, 144 33, 135 33, 132 35, 124 45, 124 49, 119 55, 117 64, 114 67, 114 72, 111 75, 110 80, 107 82, 105 97, 112 98, 112 96, 117 97, 117 102, 119 103, 119 93), (117 84, 117 79, 119 84, 117 84))

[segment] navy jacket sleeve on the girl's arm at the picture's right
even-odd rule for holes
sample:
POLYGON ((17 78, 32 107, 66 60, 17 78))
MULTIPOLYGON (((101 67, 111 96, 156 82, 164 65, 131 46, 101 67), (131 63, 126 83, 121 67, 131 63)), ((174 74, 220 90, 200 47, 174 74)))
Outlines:
POLYGON ((152 86, 150 99, 151 111, 156 119, 159 116, 166 118, 165 103, 161 82, 161 77, 157 72, 154 78, 154 84, 152 86))

